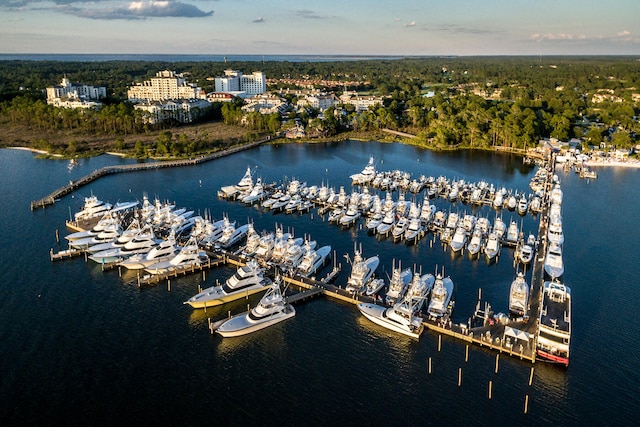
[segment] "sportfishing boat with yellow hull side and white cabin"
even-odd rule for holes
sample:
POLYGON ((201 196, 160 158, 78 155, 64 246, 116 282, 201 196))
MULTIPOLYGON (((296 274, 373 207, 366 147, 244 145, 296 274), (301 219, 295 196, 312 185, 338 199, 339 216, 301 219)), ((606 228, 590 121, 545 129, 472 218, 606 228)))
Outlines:
POLYGON ((224 284, 204 289, 184 303, 193 308, 222 305, 261 292, 269 285, 271 285, 271 280, 264 276, 264 272, 258 263, 255 260, 251 260, 246 265, 238 268, 224 284))

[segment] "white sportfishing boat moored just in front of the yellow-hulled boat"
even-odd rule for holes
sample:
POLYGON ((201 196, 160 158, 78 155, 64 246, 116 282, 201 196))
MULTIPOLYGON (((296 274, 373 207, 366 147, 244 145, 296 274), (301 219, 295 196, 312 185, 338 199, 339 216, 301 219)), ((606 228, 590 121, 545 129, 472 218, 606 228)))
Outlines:
POLYGON ((257 306, 246 313, 225 320, 216 332, 223 337, 237 337, 275 325, 296 315, 296 310, 287 304, 280 289, 279 277, 260 298, 257 306))

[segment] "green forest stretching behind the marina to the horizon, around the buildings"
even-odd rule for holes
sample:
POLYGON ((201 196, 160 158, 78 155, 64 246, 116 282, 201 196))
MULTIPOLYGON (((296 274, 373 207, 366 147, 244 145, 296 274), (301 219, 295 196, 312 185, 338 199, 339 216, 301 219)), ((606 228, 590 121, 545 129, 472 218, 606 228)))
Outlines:
MULTIPOLYGON (((82 135, 118 136, 173 130, 178 123, 145 124, 126 100, 127 88, 159 70, 183 73, 205 91, 225 69, 263 71, 268 90, 302 87, 339 96, 358 90, 384 98, 356 112, 338 104, 322 114, 292 110, 284 117, 243 115, 241 101, 214 104, 204 121, 242 124, 248 133, 274 133, 297 118, 334 137, 343 132, 393 129, 417 135, 419 144, 448 149, 525 148, 542 138, 632 147, 640 133, 640 61, 633 57, 419 57, 335 62, 0 61, 1 126, 29 126, 82 135), (99 111, 46 104, 45 88, 66 76, 107 87, 99 111)), ((287 100, 296 101, 288 95, 287 100)), ((165 134, 166 135, 166 134, 165 134)), ((160 141, 166 150, 167 141, 160 141)), ((171 141, 169 141, 171 142, 171 141)), ((207 147, 188 144, 185 147, 207 147)), ((164 147, 164 149, 162 148, 164 147)), ((157 147, 153 147, 154 149, 157 147)), ((188 151, 189 149, 187 149, 188 151)), ((183 154, 187 153, 182 150, 183 154)))

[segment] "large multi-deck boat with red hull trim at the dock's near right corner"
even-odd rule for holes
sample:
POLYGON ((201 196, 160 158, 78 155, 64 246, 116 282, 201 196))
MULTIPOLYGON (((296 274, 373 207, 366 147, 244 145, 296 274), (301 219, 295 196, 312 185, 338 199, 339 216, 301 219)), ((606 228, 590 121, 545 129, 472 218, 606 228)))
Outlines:
POLYGON ((571 289, 558 281, 544 282, 536 353, 568 366, 570 341, 571 289))

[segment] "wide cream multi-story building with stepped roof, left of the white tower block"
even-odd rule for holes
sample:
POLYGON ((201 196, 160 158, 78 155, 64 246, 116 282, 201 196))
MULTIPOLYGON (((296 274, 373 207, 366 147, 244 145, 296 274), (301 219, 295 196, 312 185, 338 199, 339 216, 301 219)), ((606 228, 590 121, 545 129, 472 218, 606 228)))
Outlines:
POLYGON ((151 80, 136 83, 127 91, 129 101, 150 102, 171 99, 202 99, 205 93, 196 84, 188 83, 182 74, 164 70, 151 80))

